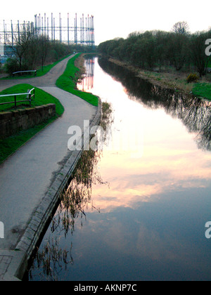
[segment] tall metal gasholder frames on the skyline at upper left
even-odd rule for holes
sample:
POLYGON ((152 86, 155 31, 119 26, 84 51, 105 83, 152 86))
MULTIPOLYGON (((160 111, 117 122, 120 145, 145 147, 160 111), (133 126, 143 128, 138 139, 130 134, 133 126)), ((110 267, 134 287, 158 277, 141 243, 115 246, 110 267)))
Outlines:
MULTIPOLYGON (((81 18, 70 18, 68 13, 67 18, 63 20, 59 13, 58 18, 54 18, 51 13, 51 18, 44 16, 34 15, 34 22, 14 22, 0 21, 0 44, 4 47, 13 47, 15 42, 20 38, 20 33, 23 28, 30 29, 32 34, 46 35, 51 41, 60 41, 65 44, 86 45, 93 47, 95 45, 94 39, 94 16, 82 15, 81 18)), ((6 54, 6 53, 4 53, 6 54)))

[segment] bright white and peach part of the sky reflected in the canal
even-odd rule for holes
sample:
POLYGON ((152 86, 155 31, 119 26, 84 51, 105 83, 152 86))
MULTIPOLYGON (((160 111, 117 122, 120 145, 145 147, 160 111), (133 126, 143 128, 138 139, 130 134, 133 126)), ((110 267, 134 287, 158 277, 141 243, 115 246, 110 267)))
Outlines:
POLYGON ((188 133, 184 124, 167 115, 165 110, 146 109, 129 100, 122 85, 114 83, 103 72, 98 72, 94 78, 92 91, 99 96, 102 84, 112 84, 106 87, 104 98, 115 110, 110 146, 120 146, 120 141, 127 140, 129 132, 136 138, 141 137, 142 144, 139 147, 141 157, 135 157, 137 147, 129 151, 107 147, 103 152, 99 166, 103 181, 110 183, 110 189, 101 185, 94 187, 97 207, 101 210, 113 206, 133 207, 138 200, 151 202, 151 199, 162 198, 166 192, 184 191, 186 197, 187 189, 210 188, 211 154, 198 150, 193 140, 196 133, 188 133))

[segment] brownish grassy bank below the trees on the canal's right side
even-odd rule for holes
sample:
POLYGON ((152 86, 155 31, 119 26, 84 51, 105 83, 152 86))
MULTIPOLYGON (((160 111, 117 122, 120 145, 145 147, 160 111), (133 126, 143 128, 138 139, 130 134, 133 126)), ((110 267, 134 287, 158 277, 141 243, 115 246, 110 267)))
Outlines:
POLYGON ((171 68, 165 72, 153 72, 141 70, 138 67, 121 62, 120 60, 115 60, 114 58, 110 58, 109 60, 116 65, 127 67, 134 72, 137 77, 146 79, 152 84, 161 86, 162 88, 174 89, 174 91, 186 95, 193 94, 194 96, 211 100, 211 74, 207 74, 199 79, 198 83, 188 83, 186 78, 188 77, 188 74, 190 74, 189 72, 177 72, 171 68))

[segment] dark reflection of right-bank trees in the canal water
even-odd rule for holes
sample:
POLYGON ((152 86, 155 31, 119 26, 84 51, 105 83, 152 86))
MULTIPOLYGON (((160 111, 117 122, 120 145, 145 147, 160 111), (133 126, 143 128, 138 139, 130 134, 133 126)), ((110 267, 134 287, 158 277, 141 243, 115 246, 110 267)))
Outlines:
POLYGON ((196 140, 199 148, 211 150, 210 102, 155 86, 136 77, 124 67, 110 63, 103 58, 100 58, 98 63, 105 72, 122 83, 130 99, 139 101, 151 109, 164 108, 167 114, 181 119, 188 132, 198 133, 196 140))

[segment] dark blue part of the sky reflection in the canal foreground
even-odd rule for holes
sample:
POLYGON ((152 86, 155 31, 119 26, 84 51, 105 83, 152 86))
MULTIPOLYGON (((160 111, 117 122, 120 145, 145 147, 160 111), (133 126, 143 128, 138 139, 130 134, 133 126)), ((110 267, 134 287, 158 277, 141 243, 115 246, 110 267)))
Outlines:
POLYGON ((208 195, 198 190, 184 199, 180 192, 136 202, 134 209, 87 214, 72 237, 72 280, 209 280, 210 244, 203 232, 208 195), (198 193, 207 195, 200 208, 198 193))

